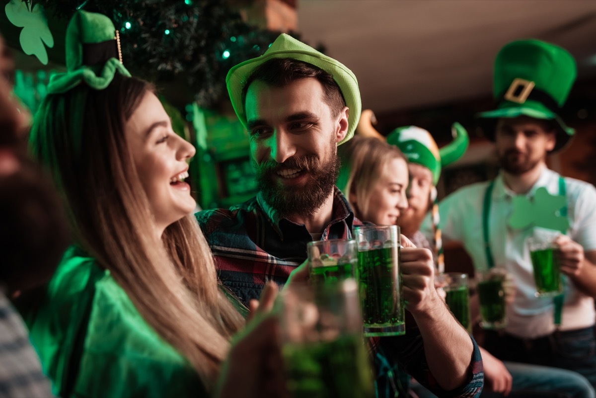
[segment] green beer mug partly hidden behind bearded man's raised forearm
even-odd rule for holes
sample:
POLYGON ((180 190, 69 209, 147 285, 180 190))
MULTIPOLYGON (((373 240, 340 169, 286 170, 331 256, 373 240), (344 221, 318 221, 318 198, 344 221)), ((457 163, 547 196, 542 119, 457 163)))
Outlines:
POLYGON ((460 321, 460 324, 471 332, 470 322, 470 291, 468 290, 468 274, 446 272, 438 276, 445 291, 445 303, 449 310, 460 321))

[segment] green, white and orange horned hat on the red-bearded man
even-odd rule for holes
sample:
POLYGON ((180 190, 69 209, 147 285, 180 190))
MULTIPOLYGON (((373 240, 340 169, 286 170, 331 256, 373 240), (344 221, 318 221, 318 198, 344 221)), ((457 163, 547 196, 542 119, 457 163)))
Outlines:
POLYGON ((464 156, 470 143, 468 132, 460 123, 452 125, 451 133, 454 140, 440 149, 427 130, 416 126, 393 130, 387 136, 387 143, 398 147, 410 163, 420 164, 429 169, 433 173, 433 185, 437 185, 441 168, 464 156))

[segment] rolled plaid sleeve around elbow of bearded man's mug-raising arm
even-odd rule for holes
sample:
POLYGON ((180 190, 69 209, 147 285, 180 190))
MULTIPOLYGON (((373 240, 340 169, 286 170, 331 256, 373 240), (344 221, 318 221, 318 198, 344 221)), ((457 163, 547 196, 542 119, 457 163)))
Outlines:
MULTIPOLYGON (((396 337, 371 338, 368 344, 377 369, 377 397, 395 396, 408 390, 403 385, 403 372, 414 377, 439 398, 479 398, 484 385, 482 356, 476 341, 466 383, 455 390, 445 391, 439 387, 426 361, 424 344, 414 318, 406 315, 406 334, 396 337)), ((405 394, 404 394, 405 395, 405 394)))

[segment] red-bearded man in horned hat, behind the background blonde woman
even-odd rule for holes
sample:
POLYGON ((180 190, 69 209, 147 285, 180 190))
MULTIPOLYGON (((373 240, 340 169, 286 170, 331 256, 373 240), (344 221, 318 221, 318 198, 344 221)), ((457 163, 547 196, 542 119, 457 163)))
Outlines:
POLYGON ((442 167, 461 158, 468 148, 470 139, 460 123, 452 126, 454 141, 443 148, 437 147, 433 136, 427 130, 416 126, 406 126, 393 130, 387 142, 396 145, 408 158, 410 185, 408 187, 408 209, 398 217, 397 224, 418 247, 429 247, 434 251, 437 270, 443 272, 443 248, 439 229, 439 207, 437 189, 442 167), (429 244, 420 226, 431 212, 433 223, 432 245, 429 244))

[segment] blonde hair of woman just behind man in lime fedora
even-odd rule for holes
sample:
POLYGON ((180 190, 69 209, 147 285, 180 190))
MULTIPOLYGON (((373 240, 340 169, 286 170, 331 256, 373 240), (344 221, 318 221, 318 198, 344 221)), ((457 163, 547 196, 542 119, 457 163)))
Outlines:
POLYGON ((407 160, 397 147, 373 136, 353 136, 337 147, 342 169, 337 187, 346 195, 356 217, 368 213, 368 198, 377 185, 384 167, 395 158, 407 160), (354 200, 355 199, 355 200, 354 200))

